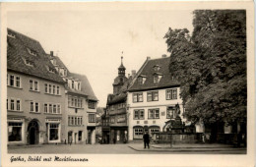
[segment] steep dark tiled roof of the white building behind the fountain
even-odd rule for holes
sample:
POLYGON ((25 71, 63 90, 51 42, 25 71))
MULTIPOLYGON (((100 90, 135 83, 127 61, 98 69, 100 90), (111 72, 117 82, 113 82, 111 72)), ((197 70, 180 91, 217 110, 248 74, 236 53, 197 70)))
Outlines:
POLYGON ((128 91, 157 89, 176 85, 179 85, 179 83, 173 80, 169 73, 169 57, 164 57, 147 60, 144 67, 136 75, 134 82, 129 86, 128 91), (155 67, 160 68, 156 71, 155 67), (162 76, 159 83, 154 83, 154 75, 156 74, 162 76), (139 83, 138 77, 140 76, 146 77, 145 83, 139 83))

